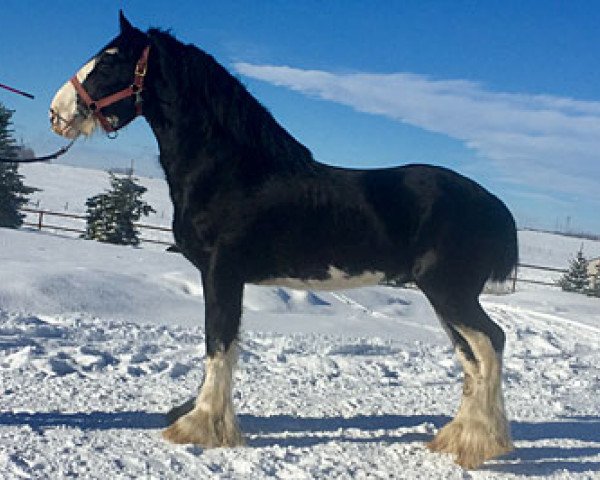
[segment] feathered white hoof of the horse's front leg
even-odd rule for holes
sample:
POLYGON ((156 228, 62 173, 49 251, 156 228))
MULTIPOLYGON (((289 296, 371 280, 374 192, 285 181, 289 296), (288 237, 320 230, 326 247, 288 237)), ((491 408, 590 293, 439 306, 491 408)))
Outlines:
POLYGON ((162 436, 178 444, 195 444, 203 448, 239 447, 244 445, 242 433, 233 414, 211 415, 192 411, 177 420, 162 436))

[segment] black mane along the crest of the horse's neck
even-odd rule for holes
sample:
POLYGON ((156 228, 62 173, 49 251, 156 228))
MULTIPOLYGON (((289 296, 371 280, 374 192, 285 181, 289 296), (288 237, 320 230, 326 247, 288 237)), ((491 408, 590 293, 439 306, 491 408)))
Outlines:
MULTIPOLYGON (((227 135, 240 147, 260 152, 265 162, 306 165, 311 152, 290 135, 212 55, 195 45, 184 44, 168 31, 150 29, 153 48, 160 52, 163 75, 174 76, 177 91, 170 102, 185 107, 190 118, 205 135, 227 135), (208 112, 209 117, 202 115, 208 112)), ((164 99, 163 99, 164 101, 164 99)))

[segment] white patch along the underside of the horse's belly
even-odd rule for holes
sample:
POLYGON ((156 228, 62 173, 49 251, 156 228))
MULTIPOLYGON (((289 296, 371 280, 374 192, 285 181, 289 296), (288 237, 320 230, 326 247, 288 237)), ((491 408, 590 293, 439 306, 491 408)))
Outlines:
POLYGON ((278 287, 288 287, 296 290, 345 290, 349 288, 358 288, 368 285, 377 285, 385 278, 383 272, 364 271, 358 275, 350 275, 343 270, 329 267, 326 278, 290 278, 278 277, 268 278, 254 285, 268 285, 278 287))

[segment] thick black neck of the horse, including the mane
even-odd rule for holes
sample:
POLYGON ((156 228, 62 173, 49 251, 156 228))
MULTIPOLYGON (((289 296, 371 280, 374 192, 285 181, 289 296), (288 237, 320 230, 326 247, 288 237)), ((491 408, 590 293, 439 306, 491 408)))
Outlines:
POLYGON ((260 171, 315 168, 310 151, 211 56, 164 37, 151 36, 158 72, 149 69, 144 109, 170 184, 239 162, 260 171))

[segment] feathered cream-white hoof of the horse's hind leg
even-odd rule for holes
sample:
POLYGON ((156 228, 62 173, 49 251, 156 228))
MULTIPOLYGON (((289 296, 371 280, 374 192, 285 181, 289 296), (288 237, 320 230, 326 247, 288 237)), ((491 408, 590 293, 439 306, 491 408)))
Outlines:
POLYGON ((467 470, 478 468, 486 460, 513 449, 507 433, 492 435, 481 422, 457 420, 445 425, 427 447, 432 452, 454 454, 456 463, 467 470))

